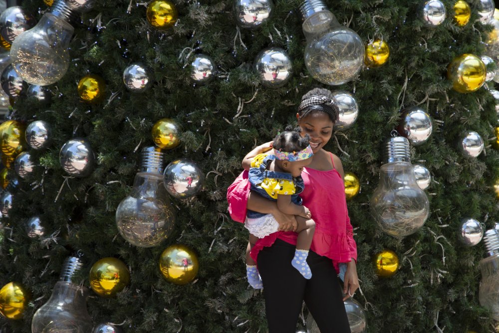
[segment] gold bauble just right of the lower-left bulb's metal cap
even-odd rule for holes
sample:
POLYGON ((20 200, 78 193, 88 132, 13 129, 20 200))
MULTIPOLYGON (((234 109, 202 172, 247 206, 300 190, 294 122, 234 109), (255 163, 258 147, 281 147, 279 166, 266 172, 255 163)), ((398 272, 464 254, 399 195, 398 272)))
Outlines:
POLYGON ((102 258, 90 269, 90 287, 102 297, 114 297, 130 283, 130 272, 116 258, 102 258))

